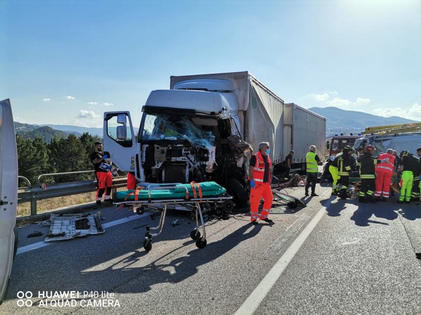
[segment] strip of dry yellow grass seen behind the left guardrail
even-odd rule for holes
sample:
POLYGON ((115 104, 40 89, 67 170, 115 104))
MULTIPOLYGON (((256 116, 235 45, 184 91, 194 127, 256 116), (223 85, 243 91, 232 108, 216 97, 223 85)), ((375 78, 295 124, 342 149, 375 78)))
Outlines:
MULTIPOLYGON (((126 190, 126 188, 122 187, 122 188, 118 188, 117 190, 126 190)), ((80 194, 64 196, 64 197, 38 200, 37 211, 41 212, 41 211, 53 210, 57 208, 68 207, 68 206, 80 205, 87 202, 94 202, 95 196, 96 196, 96 191, 93 191, 93 192, 80 193, 80 194)), ((18 205, 17 215, 26 215, 29 213, 31 213, 30 202, 23 202, 18 205)))

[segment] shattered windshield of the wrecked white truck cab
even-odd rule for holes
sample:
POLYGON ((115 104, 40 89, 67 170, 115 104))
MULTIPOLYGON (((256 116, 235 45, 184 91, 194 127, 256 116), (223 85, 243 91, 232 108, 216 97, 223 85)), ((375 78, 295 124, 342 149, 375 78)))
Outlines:
POLYGON ((161 114, 144 114, 140 141, 187 140, 193 146, 211 147, 215 136, 196 126, 187 117, 161 114))

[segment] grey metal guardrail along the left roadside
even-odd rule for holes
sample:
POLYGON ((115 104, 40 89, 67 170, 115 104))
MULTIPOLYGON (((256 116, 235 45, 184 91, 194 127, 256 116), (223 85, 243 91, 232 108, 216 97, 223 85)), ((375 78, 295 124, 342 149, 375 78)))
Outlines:
MULTIPOLYGON (((86 180, 70 183, 59 183, 51 184, 43 188, 43 184, 40 183, 40 178, 44 176, 54 176, 54 175, 72 175, 80 173, 88 173, 93 171, 78 171, 78 172, 67 172, 67 173, 51 173, 51 174, 41 174, 38 176, 37 184, 38 187, 32 187, 30 181, 23 177, 18 176, 19 179, 24 180, 28 187, 18 188, 18 204, 23 202, 31 203, 31 216, 37 214, 37 201, 55 197, 64 197, 79 193, 93 192, 96 190, 96 179, 95 180, 86 180)), ((125 187, 127 185, 127 176, 118 176, 113 178, 113 190, 119 187, 125 187)))

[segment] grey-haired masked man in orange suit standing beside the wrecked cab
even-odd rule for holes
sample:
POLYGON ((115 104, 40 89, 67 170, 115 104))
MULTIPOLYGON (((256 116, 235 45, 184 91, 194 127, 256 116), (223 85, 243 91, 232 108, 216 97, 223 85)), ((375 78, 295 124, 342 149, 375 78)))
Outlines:
POLYGON ((269 157, 270 146, 268 142, 259 144, 259 150, 250 160, 250 217, 252 224, 256 225, 260 199, 264 199, 263 210, 260 213, 260 220, 273 223, 267 216, 272 207, 273 195, 270 187, 270 168, 272 161, 269 157))

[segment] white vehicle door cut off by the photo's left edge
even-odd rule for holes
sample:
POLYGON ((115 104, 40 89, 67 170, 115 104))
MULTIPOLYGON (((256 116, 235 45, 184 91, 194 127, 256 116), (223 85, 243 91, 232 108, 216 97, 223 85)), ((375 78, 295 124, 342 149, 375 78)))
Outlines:
POLYGON ((0 101, 0 304, 12 269, 17 203, 18 153, 12 108, 7 99, 0 101))

